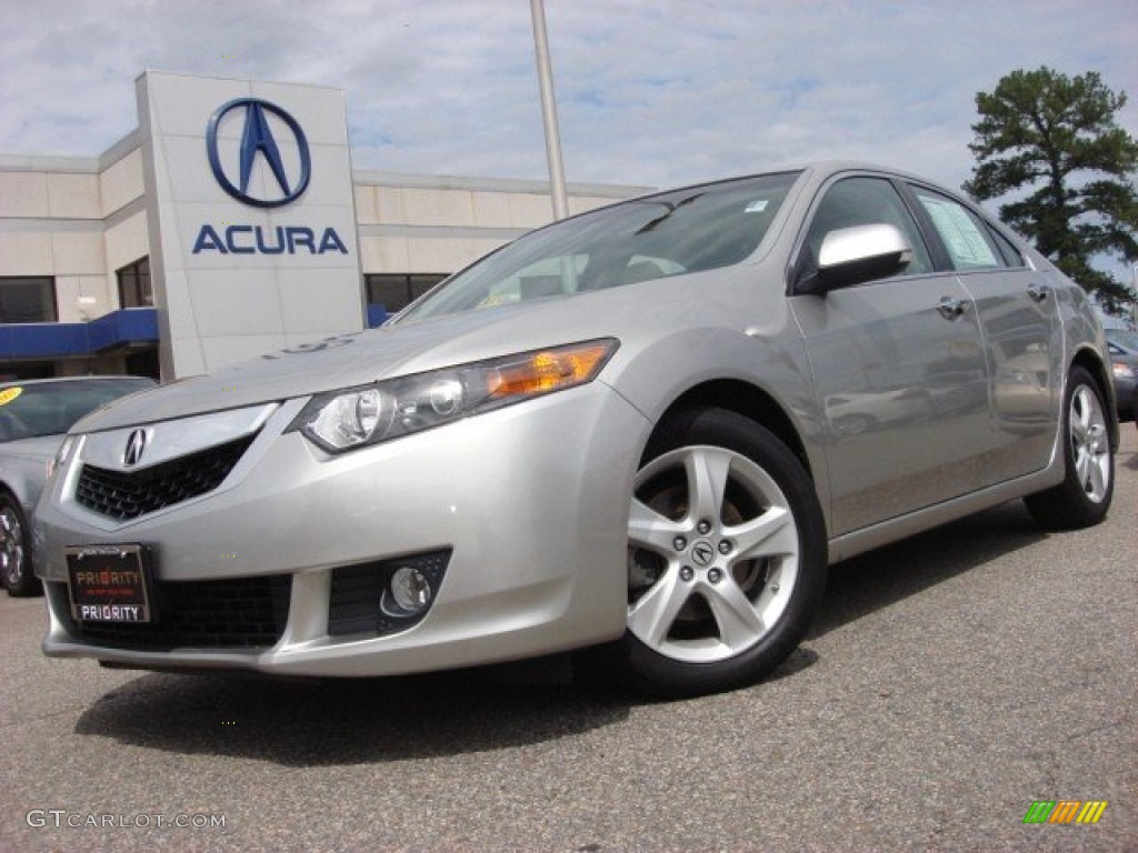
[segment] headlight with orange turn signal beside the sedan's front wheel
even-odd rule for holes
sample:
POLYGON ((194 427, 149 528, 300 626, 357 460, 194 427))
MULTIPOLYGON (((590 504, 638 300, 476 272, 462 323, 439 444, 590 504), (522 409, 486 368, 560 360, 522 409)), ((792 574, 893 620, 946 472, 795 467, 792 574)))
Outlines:
POLYGON ((313 397, 289 426, 339 453, 592 382, 611 338, 473 362, 313 397))

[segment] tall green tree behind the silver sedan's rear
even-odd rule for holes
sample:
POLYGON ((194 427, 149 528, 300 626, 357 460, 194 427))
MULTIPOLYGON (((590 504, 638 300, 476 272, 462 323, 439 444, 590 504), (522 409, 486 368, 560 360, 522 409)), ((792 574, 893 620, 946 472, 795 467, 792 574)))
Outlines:
POLYGON ((1012 72, 976 94, 976 165, 964 184, 979 201, 1013 194, 1000 217, 1114 314, 1135 295, 1090 260, 1138 260, 1138 142, 1115 122, 1125 102, 1095 72, 1012 72))

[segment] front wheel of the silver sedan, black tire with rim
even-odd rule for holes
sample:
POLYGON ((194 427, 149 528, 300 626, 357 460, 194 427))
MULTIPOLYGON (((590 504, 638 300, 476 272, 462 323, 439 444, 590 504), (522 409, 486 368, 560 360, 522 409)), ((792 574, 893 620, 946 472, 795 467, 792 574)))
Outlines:
POLYGON ((669 419, 632 500, 625 677, 657 696, 754 684, 806 635, 826 564, 814 483, 778 438, 724 409, 669 419))

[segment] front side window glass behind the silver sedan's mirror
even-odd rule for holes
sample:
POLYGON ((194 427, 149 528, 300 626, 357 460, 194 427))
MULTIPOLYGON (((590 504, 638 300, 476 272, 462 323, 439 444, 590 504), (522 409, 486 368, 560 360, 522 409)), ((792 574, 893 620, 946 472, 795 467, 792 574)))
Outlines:
POLYGON ((932 258, 916 220, 893 184, 884 177, 846 177, 826 189, 806 234, 800 270, 803 274, 817 270, 818 250, 831 231, 882 224, 900 229, 913 247, 913 262, 905 268, 906 275, 932 270, 932 258))

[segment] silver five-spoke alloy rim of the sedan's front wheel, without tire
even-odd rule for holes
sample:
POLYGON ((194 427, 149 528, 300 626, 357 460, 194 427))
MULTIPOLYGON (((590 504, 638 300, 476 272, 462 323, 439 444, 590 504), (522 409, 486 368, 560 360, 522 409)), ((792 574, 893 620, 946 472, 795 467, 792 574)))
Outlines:
POLYGON ((628 629, 675 661, 735 657, 786 610, 799 557, 793 512, 766 471, 721 447, 671 450, 636 477, 628 629))

